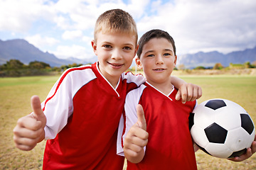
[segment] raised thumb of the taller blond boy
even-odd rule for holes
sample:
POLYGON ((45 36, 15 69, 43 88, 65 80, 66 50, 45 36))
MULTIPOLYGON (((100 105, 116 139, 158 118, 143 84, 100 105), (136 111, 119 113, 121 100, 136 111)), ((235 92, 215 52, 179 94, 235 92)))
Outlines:
POLYGON ((41 121, 43 124, 46 124, 46 115, 43 113, 41 101, 38 96, 31 97, 31 108, 33 110, 33 118, 36 118, 36 120, 41 121))

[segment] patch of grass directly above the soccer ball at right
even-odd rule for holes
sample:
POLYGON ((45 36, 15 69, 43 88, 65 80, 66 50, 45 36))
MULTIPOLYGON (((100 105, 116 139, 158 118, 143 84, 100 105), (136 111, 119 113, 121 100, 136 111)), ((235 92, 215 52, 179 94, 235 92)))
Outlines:
POLYGON ((256 77, 255 76, 211 76, 181 77, 187 82, 198 84, 203 96, 198 103, 210 98, 225 98, 240 104, 256 123, 256 77))

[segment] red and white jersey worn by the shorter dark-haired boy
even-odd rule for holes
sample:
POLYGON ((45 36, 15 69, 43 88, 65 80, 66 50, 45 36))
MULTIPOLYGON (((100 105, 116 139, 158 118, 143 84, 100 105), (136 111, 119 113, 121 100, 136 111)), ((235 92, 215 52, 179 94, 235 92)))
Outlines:
MULTIPOLYGON (((127 94, 124 104, 124 127, 119 124, 117 153, 124 155, 122 142, 129 129, 137 123, 136 106, 141 104, 149 132, 144 159, 127 163, 127 169, 197 169, 188 117, 196 101, 176 101, 177 89, 166 96, 148 82, 127 94)), ((122 120, 122 119, 121 119, 122 120)))

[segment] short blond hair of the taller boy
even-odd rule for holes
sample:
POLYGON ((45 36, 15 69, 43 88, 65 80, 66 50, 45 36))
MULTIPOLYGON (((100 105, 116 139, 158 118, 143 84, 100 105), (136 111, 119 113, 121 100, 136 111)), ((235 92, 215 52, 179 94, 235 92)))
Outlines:
POLYGON ((112 9, 102 13, 97 18, 94 31, 94 40, 97 42, 97 33, 127 33, 134 35, 138 40, 137 26, 132 16, 122 9, 112 9))

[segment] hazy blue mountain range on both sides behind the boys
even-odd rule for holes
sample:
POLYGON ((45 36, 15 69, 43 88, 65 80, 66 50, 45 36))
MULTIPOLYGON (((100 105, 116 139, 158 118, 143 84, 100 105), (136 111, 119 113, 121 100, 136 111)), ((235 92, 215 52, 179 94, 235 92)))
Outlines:
MULTIPOLYGON (((49 52, 43 52, 34 45, 31 45, 26 40, 0 40, 0 64, 5 64, 7 61, 15 59, 20 60, 23 64, 29 62, 46 62, 51 67, 60 67, 68 64, 88 64, 97 61, 97 57, 80 60, 75 57, 70 57, 66 60, 59 59, 49 52)), ((245 62, 256 61, 256 47, 242 51, 230 52, 223 54, 218 51, 213 52, 197 52, 195 54, 187 54, 178 56, 177 65, 183 64, 186 68, 195 68, 198 66, 213 67, 216 63, 223 64, 227 67, 230 63, 243 64, 245 62)))

